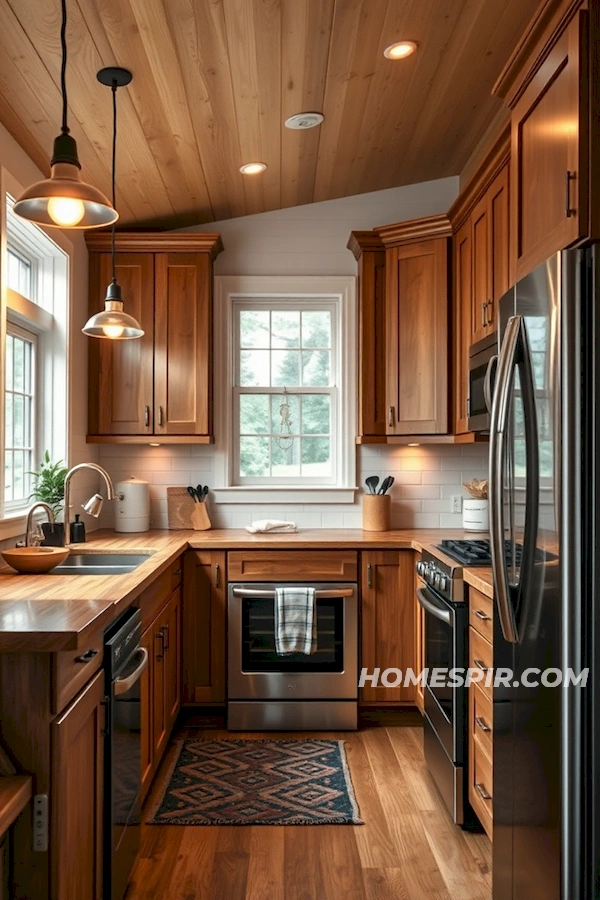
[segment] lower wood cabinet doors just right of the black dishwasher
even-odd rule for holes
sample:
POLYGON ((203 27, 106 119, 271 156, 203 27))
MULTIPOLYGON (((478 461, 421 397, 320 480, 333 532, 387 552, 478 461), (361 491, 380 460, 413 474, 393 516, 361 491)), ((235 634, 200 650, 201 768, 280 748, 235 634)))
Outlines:
POLYGON ((142 635, 148 668, 142 676, 142 798, 167 746, 181 705, 181 592, 173 592, 142 635))

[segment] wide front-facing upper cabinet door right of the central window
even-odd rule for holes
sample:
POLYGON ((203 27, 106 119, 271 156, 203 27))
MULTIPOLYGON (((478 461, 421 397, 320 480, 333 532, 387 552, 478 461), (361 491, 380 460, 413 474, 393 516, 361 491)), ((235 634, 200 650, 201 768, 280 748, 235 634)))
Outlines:
POLYGON ((388 434, 448 431, 448 241, 386 251, 388 434))

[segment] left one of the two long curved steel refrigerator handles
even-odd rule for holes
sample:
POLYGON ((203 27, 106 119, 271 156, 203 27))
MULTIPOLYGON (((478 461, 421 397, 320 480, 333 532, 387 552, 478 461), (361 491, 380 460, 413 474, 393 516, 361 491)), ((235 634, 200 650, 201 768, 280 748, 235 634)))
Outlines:
POLYGON ((510 586, 504 550, 504 501, 502 496, 506 433, 509 424, 511 390, 514 383, 521 317, 511 316, 498 359, 498 377, 490 426, 490 549, 494 596, 504 640, 516 644, 517 623, 510 602, 510 586))

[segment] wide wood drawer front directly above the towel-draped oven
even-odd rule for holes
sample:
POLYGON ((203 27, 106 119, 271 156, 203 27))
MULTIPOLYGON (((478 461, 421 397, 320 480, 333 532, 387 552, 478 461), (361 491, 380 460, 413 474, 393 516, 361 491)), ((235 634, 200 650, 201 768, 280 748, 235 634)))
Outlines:
POLYGON ((355 550, 236 550, 227 554, 229 581, 356 581, 355 550))

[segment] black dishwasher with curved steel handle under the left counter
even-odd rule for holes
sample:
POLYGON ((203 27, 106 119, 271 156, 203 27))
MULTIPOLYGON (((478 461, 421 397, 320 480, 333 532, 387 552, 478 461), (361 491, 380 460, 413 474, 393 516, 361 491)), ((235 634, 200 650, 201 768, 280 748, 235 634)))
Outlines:
POLYGON ((122 900, 140 846, 140 678, 148 651, 140 647, 142 613, 127 610, 104 637, 106 744, 104 781, 105 900, 122 900))

